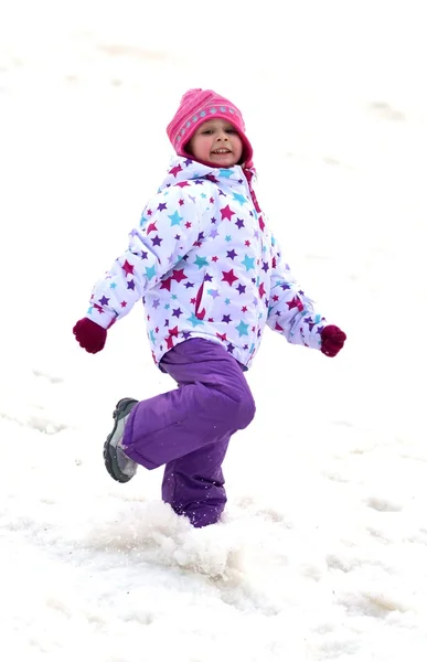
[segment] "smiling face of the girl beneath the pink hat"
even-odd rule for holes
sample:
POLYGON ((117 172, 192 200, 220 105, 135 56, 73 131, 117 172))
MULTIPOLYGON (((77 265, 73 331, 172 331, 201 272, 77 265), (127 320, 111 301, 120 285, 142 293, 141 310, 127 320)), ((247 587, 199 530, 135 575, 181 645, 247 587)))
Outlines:
POLYGON ((199 127, 186 150, 202 163, 217 168, 232 168, 242 158, 243 145, 233 125, 225 119, 214 117, 199 127))

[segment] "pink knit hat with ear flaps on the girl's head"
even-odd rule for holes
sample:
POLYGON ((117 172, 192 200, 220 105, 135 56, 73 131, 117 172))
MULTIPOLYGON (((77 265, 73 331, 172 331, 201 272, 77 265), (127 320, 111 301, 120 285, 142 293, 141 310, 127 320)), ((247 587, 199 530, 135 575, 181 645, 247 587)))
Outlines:
POLYGON ((189 89, 182 97, 180 107, 167 128, 169 140, 177 154, 189 159, 193 158, 185 151, 185 146, 200 125, 213 117, 226 119, 238 131, 243 142, 242 159, 245 166, 250 168, 253 149, 245 136, 242 113, 232 102, 220 96, 213 89, 189 89))

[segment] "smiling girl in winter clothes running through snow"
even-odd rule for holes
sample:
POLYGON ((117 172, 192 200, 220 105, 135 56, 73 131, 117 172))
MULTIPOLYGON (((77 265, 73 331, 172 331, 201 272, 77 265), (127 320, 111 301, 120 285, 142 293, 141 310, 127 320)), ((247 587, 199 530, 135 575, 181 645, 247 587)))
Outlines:
POLYGON ((211 89, 190 89, 167 130, 178 156, 73 332, 99 352, 107 329, 142 299, 152 357, 178 388, 117 403, 105 465, 119 482, 138 465, 164 465, 163 501, 205 526, 225 506, 228 441, 255 415, 244 372, 265 327, 327 356, 345 334, 327 324, 282 260, 252 186, 238 108, 211 89))

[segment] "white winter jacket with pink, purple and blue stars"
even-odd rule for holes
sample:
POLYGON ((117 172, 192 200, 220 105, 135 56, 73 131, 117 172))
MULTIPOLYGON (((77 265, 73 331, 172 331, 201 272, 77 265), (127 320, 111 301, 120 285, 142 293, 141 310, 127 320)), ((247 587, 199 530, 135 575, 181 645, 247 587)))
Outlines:
POLYGON ((327 322, 281 258, 254 174, 174 158, 128 248, 95 285, 87 317, 107 329, 142 300, 156 363, 205 338, 249 367, 266 325, 320 349, 327 322))

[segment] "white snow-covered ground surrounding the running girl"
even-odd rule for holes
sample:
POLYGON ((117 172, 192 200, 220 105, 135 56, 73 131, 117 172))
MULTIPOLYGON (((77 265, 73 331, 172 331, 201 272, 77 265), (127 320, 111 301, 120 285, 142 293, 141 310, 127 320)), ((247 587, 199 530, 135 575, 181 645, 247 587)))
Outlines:
POLYGON ((0 3, 0 640, 14 662, 425 662, 424 2, 0 3), (259 199, 334 360, 267 330, 192 530, 116 484, 122 396, 173 386, 142 308, 72 328, 167 170, 189 87, 245 116, 259 199))

